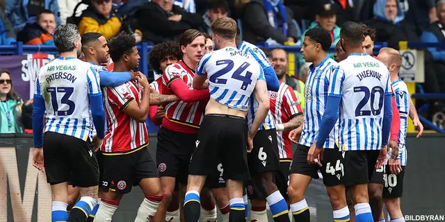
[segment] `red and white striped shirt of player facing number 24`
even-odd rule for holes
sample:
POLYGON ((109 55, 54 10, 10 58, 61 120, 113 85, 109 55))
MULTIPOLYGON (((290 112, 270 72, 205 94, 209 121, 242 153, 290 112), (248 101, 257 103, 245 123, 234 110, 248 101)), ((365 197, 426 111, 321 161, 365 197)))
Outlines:
MULTIPOLYGON (((194 76, 194 71, 188 68, 182 60, 168 66, 162 75, 162 94, 175 94, 170 88, 170 83, 183 80, 187 85, 191 85, 194 76)), ((190 89, 193 90, 192 87, 190 89)), ((204 117, 206 105, 207 101, 169 103, 165 105, 165 118, 162 121, 162 126, 181 133, 197 133, 204 117)))

